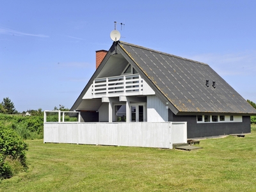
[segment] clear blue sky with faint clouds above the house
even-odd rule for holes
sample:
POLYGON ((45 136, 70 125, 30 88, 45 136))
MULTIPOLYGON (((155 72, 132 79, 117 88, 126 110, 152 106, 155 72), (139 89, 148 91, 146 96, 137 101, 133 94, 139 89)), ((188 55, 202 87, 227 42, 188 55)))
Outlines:
POLYGON ((71 108, 95 71, 95 51, 124 42, 209 64, 256 102, 256 1, 0 0, 0 102, 71 108))

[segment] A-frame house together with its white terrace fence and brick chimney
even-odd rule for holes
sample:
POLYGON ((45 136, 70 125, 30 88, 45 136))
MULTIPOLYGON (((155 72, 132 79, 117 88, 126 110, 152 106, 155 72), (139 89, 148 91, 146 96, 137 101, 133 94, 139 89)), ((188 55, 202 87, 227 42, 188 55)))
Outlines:
POLYGON ((96 67, 70 109, 79 124, 45 118, 44 142, 172 148, 250 132, 256 110, 205 63, 117 41, 96 67))

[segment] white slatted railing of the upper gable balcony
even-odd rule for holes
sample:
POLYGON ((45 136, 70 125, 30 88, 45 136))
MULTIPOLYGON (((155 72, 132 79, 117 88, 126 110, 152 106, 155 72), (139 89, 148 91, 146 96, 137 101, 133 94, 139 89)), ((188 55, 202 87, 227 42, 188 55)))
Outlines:
POLYGON ((139 74, 94 79, 92 98, 115 95, 142 95, 143 79, 139 74))

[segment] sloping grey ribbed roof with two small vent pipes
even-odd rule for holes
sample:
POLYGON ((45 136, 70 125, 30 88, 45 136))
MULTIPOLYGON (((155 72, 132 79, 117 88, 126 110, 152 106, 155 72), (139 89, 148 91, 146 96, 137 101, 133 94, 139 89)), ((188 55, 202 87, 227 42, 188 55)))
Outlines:
POLYGON ((205 63, 125 42, 118 42, 118 45, 179 113, 256 113, 205 63), (205 86, 206 80, 209 80, 209 87, 205 86), (216 88, 212 87, 212 81, 216 82, 216 88))

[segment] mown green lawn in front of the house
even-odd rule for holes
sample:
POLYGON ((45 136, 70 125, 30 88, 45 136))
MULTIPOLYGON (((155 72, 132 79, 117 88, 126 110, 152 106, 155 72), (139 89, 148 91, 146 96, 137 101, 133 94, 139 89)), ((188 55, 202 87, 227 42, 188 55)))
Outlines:
POLYGON ((256 131, 200 141, 200 150, 26 141, 28 172, 0 191, 256 191, 256 131))

